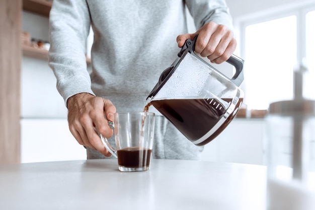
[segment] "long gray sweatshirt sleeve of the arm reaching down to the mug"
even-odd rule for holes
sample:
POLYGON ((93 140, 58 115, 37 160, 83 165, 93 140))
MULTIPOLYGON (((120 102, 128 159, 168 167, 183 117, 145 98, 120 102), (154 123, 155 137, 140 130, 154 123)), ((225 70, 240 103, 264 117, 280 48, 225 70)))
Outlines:
POLYGON ((86 42, 90 13, 84 0, 54 0, 49 15, 49 66, 57 90, 67 99, 77 93, 93 94, 87 71, 86 42))

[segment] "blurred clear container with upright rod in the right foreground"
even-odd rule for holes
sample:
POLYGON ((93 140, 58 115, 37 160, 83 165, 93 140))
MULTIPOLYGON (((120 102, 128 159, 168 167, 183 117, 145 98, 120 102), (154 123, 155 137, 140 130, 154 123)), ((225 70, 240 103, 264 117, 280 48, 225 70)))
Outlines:
POLYGON ((315 209, 315 101, 303 98, 305 69, 294 72, 294 100, 269 106, 268 210, 315 209))

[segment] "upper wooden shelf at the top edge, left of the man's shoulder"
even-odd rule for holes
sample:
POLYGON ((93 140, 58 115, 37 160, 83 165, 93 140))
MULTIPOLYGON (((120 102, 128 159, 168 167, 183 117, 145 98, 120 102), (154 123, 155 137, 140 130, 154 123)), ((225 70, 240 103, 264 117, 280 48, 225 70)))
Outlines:
POLYGON ((49 17, 52 1, 23 0, 23 10, 49 17))

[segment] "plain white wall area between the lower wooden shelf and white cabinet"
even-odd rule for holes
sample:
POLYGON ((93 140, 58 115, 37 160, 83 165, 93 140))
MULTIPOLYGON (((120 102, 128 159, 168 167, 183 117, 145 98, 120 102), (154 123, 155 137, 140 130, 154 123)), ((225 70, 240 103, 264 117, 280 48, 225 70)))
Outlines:
POLYGON ((21 87, 22 118, 66 117, 64 101, 47 60, 23 57, 21 87))

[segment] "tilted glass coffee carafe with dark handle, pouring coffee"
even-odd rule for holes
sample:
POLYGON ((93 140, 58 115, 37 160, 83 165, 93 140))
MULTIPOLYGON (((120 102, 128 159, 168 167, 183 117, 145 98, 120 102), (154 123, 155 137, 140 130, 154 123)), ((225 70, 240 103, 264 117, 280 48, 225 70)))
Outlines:
POLYGON ((227 60, 235 67, 228 78, 194 53, 196 40, 197 36, 186 40, 147 101, 191 142, 202 146, 221 133, 242 105, 244 60, 235 55, 227 60))

